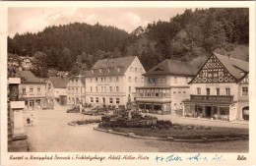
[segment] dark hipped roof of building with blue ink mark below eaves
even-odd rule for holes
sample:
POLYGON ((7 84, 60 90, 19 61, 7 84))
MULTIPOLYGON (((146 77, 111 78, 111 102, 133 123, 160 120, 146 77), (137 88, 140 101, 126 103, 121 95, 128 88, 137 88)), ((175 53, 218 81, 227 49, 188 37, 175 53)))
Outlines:
POLYGON ((165 59, 160 64, 155 66, 144 76, 154 75, 172 75, 172 76, 195 76, 197 69, 186 62, 165 59))

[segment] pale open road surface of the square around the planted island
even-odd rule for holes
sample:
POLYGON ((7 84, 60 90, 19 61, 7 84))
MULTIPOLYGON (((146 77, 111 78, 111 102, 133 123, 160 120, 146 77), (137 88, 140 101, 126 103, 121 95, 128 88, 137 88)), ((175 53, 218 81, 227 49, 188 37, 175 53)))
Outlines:
MULTIPOLYGON (((188 143, 161 140, 126 138, 94 131, 94 126, 69 126, 82 120, 80 113, 66 113, 59 106, 55 110, 26 112, 24 124, 32 152, 248 152, 248 140, 188 143), (33 114, 34 124, 28 126, 26 119, 33 114)), ((84 116, 84 119, 100 119, 84 116)))

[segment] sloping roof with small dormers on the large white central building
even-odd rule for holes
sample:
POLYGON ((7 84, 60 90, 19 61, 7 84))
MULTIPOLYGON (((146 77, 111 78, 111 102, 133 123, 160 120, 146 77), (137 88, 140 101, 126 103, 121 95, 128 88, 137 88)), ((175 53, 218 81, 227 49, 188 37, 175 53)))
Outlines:
POLYGON ((128 67, 132 64, 136 56, 128 56, 114 59, 97 60, 96 64, 86 77, 101 77, 101 76, 122 76, 127 71, 128 67), (118 72, 118 68, 120 71, 118 72), (100 73, 99 70, 102 70, 100 73), (110 70, 108 72, 108 70, 110 70))

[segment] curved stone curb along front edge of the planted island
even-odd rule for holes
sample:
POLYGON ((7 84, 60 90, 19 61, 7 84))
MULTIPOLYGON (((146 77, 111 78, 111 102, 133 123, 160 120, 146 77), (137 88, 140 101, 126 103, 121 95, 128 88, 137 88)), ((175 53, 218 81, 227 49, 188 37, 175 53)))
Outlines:
POLYGON ((98 132, 104 132, 104 133, 109 133, 113 135, 119 135, 119 136, 124 136, 128 138, 143 138, 143 139, 153 139, 153 140, 167 140, 167 141, 177 141, 177 142, 212 142, 212 141, 228 141, 228 140, 238 140, 238 139, 248 139, 248 136, 241 136, 241 138, 190 138, 190 139, 185 139, 185 138, 172 138, 172 137, 167 137, 167 138, 154 138, 154 137, 142 137, 142 136, 136 136, 134 133, 119 133, 119 132, 114 132, 112 130, 104 130, 104 129, 99 129, 99 128, 94 128, 95 131, 98 132))

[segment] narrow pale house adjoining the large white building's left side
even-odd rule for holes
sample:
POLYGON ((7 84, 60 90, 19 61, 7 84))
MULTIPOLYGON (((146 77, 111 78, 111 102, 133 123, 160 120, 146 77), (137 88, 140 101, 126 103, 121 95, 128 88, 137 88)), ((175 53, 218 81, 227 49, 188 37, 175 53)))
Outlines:
POLYGON ((68 105, 79 105, 86 103, 86 81, 85 76, 88 71, 81 71, 80 75, 69 78, 67 84, 67 100, 68 105))

